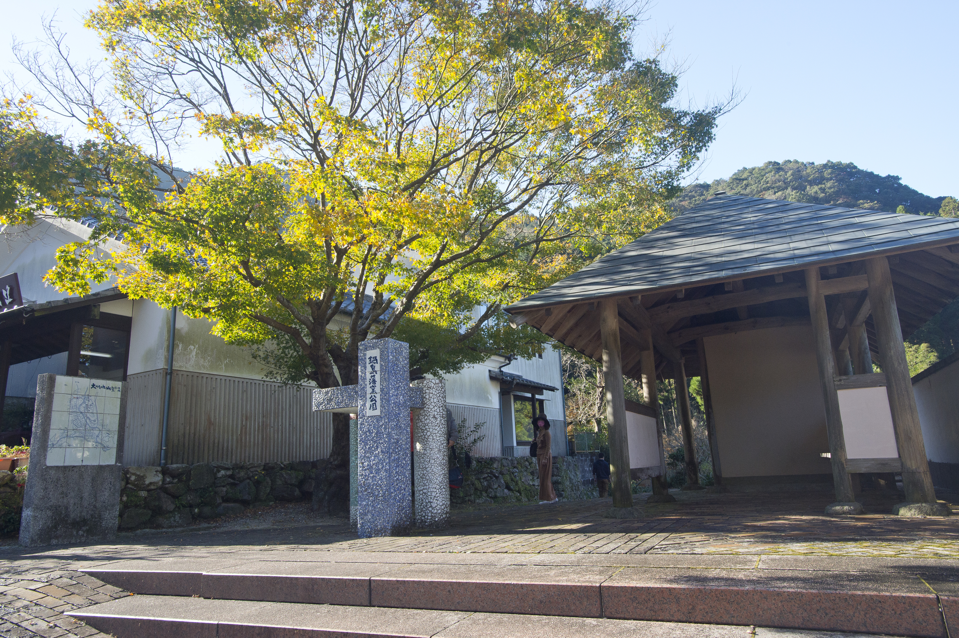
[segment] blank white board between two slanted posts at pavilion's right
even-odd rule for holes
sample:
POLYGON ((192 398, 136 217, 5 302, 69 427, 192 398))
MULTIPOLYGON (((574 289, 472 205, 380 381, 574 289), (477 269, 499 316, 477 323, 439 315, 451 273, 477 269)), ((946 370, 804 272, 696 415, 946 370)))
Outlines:
POLYGON ((850 459, 899 458, 885 388, 840 390, 839 414, 850 459))

